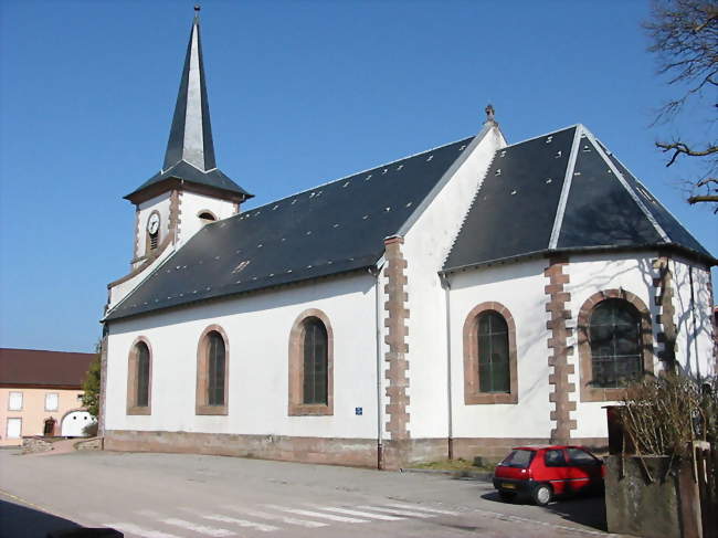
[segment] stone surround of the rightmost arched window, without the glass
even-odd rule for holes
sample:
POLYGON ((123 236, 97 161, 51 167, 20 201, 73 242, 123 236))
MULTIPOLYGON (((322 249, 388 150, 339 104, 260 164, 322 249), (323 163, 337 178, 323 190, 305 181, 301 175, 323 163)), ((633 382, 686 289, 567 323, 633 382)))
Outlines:
POLYGON ((591 315, 599 304, 608 299, 622 299, 629 303, 637 313, 640 325, 640 355, 642 358, 644 376, 654 373, 653 365, 653 327, 651 313, 646 305, 636 295, 625 289, 604 289, 591 295, 581 306, 577 323, 579 370, 580 370, 580 398, 582 402, 619 401, 625 394, 623 388, 591 387, 593 380, 593 360, 591 354, 591 315))

